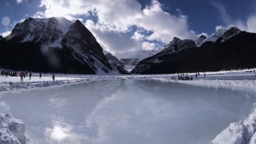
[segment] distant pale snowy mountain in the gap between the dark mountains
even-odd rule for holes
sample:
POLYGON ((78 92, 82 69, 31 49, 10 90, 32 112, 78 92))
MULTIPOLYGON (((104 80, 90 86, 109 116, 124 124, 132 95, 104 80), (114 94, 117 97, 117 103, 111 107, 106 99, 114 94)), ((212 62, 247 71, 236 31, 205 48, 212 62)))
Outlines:
POLYGON ((114 55, 124 64, 124 68, 127 71, 131 71, 139 61, 157 52, 159 52, 159 50, 134 50, 129 52, 116 52, 114 55))

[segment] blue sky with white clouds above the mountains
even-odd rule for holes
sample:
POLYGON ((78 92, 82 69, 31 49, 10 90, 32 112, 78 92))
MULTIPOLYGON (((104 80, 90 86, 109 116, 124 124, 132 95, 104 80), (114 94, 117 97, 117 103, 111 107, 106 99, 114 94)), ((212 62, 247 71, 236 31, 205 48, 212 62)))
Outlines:
POLYGON ((236 26, 256 33, 256 0, 1 0, 0 35, 25 18, 79 19, 110 52, 162 48, 236 26))

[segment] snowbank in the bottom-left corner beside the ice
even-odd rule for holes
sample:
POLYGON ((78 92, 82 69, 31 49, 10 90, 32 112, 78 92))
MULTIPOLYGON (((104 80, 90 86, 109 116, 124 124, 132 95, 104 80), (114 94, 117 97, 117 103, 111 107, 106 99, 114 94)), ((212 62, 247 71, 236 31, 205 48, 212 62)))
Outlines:
POLYGON ((25 124, 9 114, 0 113, 0 143, 26 144, 25 124))

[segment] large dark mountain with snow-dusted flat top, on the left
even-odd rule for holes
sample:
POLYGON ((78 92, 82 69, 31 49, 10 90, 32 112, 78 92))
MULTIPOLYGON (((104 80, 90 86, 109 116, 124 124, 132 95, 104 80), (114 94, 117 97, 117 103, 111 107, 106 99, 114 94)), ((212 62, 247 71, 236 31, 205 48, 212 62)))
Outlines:
POLYGON ((119 74, 80 21, 27 18, 0 42, 0 67, 38 72, 119 74))

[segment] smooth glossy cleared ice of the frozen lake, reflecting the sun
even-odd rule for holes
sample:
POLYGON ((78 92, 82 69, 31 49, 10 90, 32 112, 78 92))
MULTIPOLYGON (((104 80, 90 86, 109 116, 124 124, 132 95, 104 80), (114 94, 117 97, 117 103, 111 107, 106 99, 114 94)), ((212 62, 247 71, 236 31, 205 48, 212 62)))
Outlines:
POLYGON ((7 92, 0 112, 41 143, 208 143, 250 113, 248 92, 116 79, 7 92))

